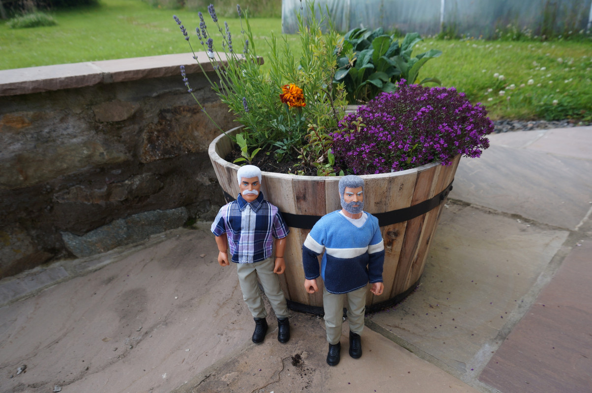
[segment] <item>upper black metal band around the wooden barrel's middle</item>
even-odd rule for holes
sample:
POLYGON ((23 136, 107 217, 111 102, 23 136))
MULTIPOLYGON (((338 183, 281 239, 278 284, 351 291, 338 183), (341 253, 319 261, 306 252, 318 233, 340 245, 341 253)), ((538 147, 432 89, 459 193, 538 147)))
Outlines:
MULTIPOLYGON (((448 187, 443 189, 440 194, 437 194, 430 199, 426 199, 426 201, 419 202, 419 204, 402 209, 387 211, 384 213, 372 213, 372 215, 378 218, 378 225, 381 227, 403 223, 404 221, 409 221, 412 218, 419 217, 422 214, 426 214, 433 208, 438 207, 440 204, 442 204, 442 202, 445 201, 451 190, 452 182, 448 185, 448 187)), ((226 202, 234 201, 234 198, 230 194, 228 194, 226 191, 223 192, 226 202)), ((284 217, 288 227, 300 229, 312 229, 314 224, 316 224, 316 222, 321 218, 320 215, 292 214, 285 213, 283 211, 282 217, 284 217)))

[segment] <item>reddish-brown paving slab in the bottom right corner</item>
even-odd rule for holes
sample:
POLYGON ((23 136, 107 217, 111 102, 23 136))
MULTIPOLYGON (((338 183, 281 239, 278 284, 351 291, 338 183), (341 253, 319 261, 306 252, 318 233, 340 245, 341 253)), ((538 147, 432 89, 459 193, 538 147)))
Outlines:
POLYGON ((577 244, 479 379, 503 392, 592 391, 592 237, 577 244))

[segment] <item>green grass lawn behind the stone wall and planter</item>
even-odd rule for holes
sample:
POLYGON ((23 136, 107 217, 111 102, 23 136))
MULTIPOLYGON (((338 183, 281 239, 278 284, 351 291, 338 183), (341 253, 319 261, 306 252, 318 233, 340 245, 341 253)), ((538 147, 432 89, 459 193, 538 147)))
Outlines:
MULTIPOLYGON (((203 12, 213 33, 210 15, 207 9, 203 12)), ((54 12, 58 25, 53 27, 10 29, 1 23, 0 69, 184 53, 189 47, 173 14, 186 26, 194 49, 200 50, 195 36, 200 22, 197 12, 153 8, 140 0, 102 0, 99 7, 54 12)), ((240 22, 227 21, 236 47, 240 22)), ((253 18, 250 22, 258 53, 265 58, 265 39, 271 32, 281 34, 281 19, 253 18)), ((297 52, 297 36, 288 39, 297 52)), ((454 86, 472 102, 485 104, 494 119, 592 121, 590 41, 427 38, 416 46, 416 52, 432 48, 443 54, 426 63, 419 79, 436 76, 443 86, 454 86)))

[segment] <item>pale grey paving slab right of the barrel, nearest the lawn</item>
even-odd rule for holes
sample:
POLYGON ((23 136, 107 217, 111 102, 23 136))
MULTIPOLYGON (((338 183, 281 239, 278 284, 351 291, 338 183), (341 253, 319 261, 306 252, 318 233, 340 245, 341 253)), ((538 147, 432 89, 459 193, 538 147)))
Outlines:
POLYGON ((592 209, 590 129, 494 134, 479 159, 461 159, 450 198, 576 229, 592 209), (585 148, 561 155, 575 151, 570 144, 585 148), (556 153, 549 153, 554 146, 556 153))

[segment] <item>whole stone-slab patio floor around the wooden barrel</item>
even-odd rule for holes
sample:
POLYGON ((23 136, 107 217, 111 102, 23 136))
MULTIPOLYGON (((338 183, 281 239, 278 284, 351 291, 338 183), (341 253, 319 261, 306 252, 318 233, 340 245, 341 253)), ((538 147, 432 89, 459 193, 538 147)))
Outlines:
POLYGON ((490 140, 461 160, 419 287, 367 316, 361 359, 344 334, 328 366, 307 314, 287 344, 273 315, 250 342, 204 223, 0 281, 0 391, 592 391, 592 127, 490 140))

